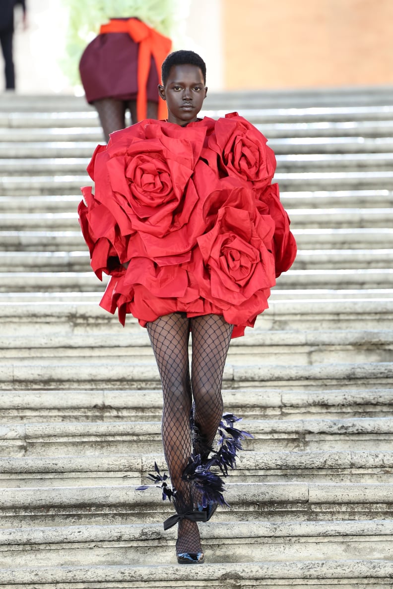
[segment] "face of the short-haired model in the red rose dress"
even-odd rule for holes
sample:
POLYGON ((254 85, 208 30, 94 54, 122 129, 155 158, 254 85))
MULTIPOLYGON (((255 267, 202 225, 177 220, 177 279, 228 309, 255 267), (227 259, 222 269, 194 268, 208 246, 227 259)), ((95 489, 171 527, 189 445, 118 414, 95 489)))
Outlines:
POLYGON ((184 64, 171 67, 166 84, 160 85, 158 92, 167 102, 169 123, 186 125, 197 120, 207 88, 200 68, 184 64))

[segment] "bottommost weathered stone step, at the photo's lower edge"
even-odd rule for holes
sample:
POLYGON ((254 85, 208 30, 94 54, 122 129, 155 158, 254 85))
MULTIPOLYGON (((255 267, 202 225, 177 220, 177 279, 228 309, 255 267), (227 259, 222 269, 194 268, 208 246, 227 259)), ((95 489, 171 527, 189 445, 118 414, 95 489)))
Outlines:
MULTIPOLYGON (((171 579, 173 589, 194 587, 272 587, 293 589, 301 584, 308 589, 331 589, 344 581, 346 588, 368 589, 370 583, 384 587, 390 583, 393 564, 389 560, 318 560, 287 562, 244 562, 229 564, 204 564, 203 567, 179 567, 179 565, 102 565, 65 567, 24 567, 0 569, 3 589, 45 589, 49 585, 57 589, 80 589, 81 584, 94 589, 133 589, 165 584, 171 579), (197 570, 196 570, 197 568, 197 570), (88 585, 87 585, 88 583, 88 585), (138 585, 136 585, 138 583, 138 585), (192 584, 192 585, 191 585, 192 584)), ((344 586, 344 585, 343 585, 344 586)))

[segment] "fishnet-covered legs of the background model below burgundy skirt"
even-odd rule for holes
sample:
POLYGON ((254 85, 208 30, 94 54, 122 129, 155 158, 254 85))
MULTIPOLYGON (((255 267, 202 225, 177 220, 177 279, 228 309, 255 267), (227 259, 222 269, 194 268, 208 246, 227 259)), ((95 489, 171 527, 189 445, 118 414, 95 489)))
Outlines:
MULTIPOLYGON (((103 98, 96 100, 94 106, 100 117, 101 127, 103 127, 104 138, 108 143, 109 134, 119 129, 126 128, 126 111, 130 111, 131 124, 137 122, 137 102, 136 100, 115 100, 115 98, 103 98)), ((157 102, 147 101, 147 118, 157 118, 157 102)))

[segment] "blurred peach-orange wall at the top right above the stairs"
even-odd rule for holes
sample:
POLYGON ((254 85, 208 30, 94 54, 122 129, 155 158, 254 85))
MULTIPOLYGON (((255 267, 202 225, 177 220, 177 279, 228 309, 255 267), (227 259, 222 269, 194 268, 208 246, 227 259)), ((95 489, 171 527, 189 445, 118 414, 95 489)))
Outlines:
POLYGON ((392 0, 224 0, 224 87, 393 84, 392 0))

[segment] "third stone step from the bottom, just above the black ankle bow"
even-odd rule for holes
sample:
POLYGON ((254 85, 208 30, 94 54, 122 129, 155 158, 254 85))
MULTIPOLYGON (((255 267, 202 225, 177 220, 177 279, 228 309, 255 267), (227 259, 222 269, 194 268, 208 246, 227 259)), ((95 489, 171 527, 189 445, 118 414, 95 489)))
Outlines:
MULTIPOLYGON (((216 521, 390 519, 393 512, 389 483, 228 483, 226 488, 231 509, 217 509, 216 521)), ((137 491, 134 485, 2 489, 0 526, 156 523, 173 513, 160 497, 156 487, 137 491)))

